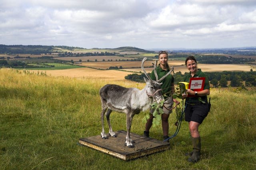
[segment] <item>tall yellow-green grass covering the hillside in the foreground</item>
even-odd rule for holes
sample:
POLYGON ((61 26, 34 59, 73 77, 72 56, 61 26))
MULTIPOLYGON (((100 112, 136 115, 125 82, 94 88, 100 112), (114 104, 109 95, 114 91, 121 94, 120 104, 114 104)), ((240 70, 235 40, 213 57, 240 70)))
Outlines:
MULTIPOLYGON (((256 169, 255 89, 211 90, 212 108, 200 126, 202 160, 196 164, 184 156, 191 150, 186 122, 169 150, 131 161, 78 146, 80 138, 100 135, 98 90, 108 83, 144 87, 0 69, 0 169, 256 169)), ((132 133, 142 135, 144 114, 134 116, 132 133)), ((169 119, 170 135, 175 117, 169 119)), ((111 118, 114 131, 126 129, 124 114, 111 118)), ((161 140, 162 128, 152 127, 150 136, 161 140)))

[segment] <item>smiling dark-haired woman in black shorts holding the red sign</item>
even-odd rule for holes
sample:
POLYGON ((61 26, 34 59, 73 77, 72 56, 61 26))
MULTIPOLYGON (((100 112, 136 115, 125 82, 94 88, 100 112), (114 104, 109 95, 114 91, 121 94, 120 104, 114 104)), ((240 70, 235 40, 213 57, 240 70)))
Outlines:
POLYGON ((187 153, 187 155, 190 156, 188 158, 188 162, 197 162, 200 160, 201 151, 201 137, 198 127, 208 115, 209 106, 207 95, 210 94, 210 84, 206 74, 197 67, 197 62, 194 56, 187 57, 185 64, 189 70, 189 74, 184 77, 184 82, 190 82, 190 78, 205 77, 203 90, 196 92, 188 89, 186 90, 186 94, 182 94, 182 99, 186 99, 185 121, 188 122, 193 146, 193 151, 187 153), (192 95, 194 97, 188 97, 188 95, 192 95), (199 97, 201 100, 199 100, 199 97))

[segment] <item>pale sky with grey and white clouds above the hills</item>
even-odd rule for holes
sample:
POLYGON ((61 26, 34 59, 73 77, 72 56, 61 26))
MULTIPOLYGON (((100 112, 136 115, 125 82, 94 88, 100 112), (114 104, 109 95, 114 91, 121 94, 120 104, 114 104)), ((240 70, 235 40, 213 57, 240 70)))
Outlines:
POLYGON ((1 0, 0 44, 256 46, 256 0, 1 0))

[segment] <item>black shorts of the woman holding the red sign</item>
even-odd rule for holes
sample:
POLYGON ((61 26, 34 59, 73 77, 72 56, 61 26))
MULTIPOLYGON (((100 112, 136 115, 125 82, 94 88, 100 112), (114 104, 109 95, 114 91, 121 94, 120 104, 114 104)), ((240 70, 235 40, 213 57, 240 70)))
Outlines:
POLYGON ((185 121, 195 121, 202 124, 204 118, 208 115, 208 103, 198 102, 195 104, 187 104, 185 108, 185 121))

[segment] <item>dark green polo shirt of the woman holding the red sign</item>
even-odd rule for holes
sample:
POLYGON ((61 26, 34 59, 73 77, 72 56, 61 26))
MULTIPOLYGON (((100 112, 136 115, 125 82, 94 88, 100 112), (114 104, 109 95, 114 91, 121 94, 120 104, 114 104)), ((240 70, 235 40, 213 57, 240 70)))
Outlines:
MULTIPOLYGON (((186 76, 184 77, 184 82, 188 82, 191 78, 191 73, 189 72, 189 74, 186 74, 186 76)), ((204 72, 202 72, 201 69, 198 69, 196 74, 193 77, 205 77, 205 82, 204 82, 204 89, 210 89, 210 84, 209 84, 209 79, 206 76, 206 74, 204 72)), ((207 102, 207 96, 201 96, 200 98, 202 98, 202 101, 207 102)), ((198 98, 195 97, 189 97, 186 99, 186 102, 198 102, 198 98)))

